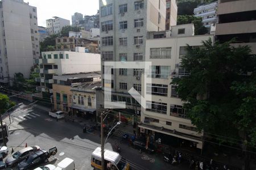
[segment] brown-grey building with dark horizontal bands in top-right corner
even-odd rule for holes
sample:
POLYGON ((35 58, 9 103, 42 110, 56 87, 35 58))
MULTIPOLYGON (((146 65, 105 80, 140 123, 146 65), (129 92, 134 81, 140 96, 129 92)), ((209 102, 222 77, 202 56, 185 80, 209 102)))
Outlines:
POLYGON ((256 1, 220 0, 217 15, 217 39, 225 42, 236 37, 234 46, 249 45, 256 54, 256 1))

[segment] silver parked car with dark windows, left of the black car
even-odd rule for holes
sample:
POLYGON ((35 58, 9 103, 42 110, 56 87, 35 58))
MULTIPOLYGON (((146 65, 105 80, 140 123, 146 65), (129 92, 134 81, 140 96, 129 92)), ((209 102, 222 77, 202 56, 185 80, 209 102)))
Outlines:
POLYGON ((14 152, 13 155, 5 160, 6 166, 10 168, 15 167, 18 163, 22 162, 28 155, 39 149, 39 146, 30 146, 14 152))

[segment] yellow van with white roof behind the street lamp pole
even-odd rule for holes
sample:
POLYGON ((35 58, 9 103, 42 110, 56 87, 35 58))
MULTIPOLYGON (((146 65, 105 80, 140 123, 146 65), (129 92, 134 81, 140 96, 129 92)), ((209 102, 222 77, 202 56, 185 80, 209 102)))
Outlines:
MULTIPOLYGON (((126 163, 117 152, 104 150, 104 160, 105 169, 130 170, 130 164, 126 163)), ((101 147, 97 147, 92 152, 91 166, 96 170, 103 170, 101 169, 101 147)))

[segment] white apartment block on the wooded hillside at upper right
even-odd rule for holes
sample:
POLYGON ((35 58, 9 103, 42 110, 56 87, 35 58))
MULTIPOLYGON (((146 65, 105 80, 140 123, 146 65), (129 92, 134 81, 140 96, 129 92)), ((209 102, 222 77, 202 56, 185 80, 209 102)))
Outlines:
POLYGON ((217 7, 217 1, 201 5, 194 9, 194 15, 201 17, 204 26, 210 29, 210 25, 215 24, 217 21, 217 7))

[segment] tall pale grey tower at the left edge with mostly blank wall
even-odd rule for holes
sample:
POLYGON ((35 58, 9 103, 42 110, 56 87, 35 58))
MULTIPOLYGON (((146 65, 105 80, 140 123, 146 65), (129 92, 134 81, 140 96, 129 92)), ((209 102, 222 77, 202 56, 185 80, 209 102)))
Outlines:
POLYGON ((40 56, 37 9, 23 0, 5 0, 0 12, 0 84, 9 84, 15 73, 29 78, 33 58, 40 56))

